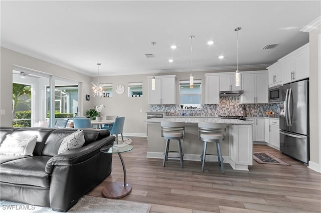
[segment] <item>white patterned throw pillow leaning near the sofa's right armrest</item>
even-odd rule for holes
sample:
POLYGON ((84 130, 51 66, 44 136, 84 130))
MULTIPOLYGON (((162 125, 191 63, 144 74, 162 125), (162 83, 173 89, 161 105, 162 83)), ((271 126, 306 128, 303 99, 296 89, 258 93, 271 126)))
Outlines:
POLYGON ((85 143, 84 130, 78 129, 71 135, 68 135, 64 138, 64 140, 61 142, 60 147, 58 149, 58 154, 74 148, 80 148, 82 147, 82 145, 84 145, 84 143, 85 143))

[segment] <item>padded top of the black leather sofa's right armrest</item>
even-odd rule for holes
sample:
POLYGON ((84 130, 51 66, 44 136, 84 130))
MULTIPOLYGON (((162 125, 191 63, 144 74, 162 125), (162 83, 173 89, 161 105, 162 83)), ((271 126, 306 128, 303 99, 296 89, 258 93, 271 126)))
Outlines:
POLYGON ((81 163, 100 152, 101 147, 112 144, 114 140, 114 136, 108 136, 86 146, 57 154, 48 160, 45 171, 52 174, 55 166, 71 166, 73 164, 81 163))

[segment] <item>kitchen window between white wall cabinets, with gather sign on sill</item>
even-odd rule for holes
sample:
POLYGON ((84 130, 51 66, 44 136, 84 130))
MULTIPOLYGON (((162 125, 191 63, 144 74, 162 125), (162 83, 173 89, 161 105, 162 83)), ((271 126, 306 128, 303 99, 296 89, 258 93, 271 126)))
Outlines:
POLYGON ((180 81, 180 97, 182 109, 200 109, 202 106, 202 81, 194 80, 194 88, 189 81, 180 81))

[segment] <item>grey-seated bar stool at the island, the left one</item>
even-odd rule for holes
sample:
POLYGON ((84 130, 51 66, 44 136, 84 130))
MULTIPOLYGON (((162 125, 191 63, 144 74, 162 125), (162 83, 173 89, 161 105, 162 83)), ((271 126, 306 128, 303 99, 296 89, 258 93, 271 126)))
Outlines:
POLYGON ((164 160, 163 160, 163 167, 165 167, 165 162, 169 158, 169 152, 178 152, 179 157, 170 157, 170 158, 180 158, 181 161, 181 168, 183 168, 183 151, 182 151, 182 144, 181 139, 185 136, 185 122, 166 122, 161 121, 162 127, 162 137, 167 139, 166 147, 164 152, 164 160), (177 140, 177 144, 179 147, 179 151, 169 151, 170 147, 170 140, 177 140))

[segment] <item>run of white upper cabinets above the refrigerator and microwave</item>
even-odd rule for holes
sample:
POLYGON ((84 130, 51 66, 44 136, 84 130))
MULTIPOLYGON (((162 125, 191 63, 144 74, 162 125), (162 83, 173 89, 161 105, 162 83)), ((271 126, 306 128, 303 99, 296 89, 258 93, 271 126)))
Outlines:
POLYGON ((269 87, 309 77, 309 43, 267 67, 269 87))

